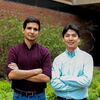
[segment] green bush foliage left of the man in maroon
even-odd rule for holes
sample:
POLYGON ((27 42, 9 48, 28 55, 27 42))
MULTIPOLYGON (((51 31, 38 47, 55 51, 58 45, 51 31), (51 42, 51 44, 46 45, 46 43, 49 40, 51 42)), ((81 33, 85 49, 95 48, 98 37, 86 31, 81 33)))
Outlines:
POLYGON ((0 75, 5 75, 6 59, 11 46, 22 41, 21 21, 15 17, 0 19, 0 75))

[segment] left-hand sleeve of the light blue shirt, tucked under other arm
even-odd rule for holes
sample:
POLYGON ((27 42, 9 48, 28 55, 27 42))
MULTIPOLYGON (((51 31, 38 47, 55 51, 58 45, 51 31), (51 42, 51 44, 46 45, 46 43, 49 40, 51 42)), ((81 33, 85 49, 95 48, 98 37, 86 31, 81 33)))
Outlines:
MULTIPOLYGON (((59 63, 59 62, 58 62, 59 63)), ((63 82, 64 80, 61 80, 61 71, 60 71, 60 66, 58 63, 55 61, 53 62, 53 67, 52 67, 52 79, 51 79, 51 86, 53 89, 57 91, 74 91, 76 89, 79 89, 77 87, 71 86, 66 84, 67 82, 63 82)))

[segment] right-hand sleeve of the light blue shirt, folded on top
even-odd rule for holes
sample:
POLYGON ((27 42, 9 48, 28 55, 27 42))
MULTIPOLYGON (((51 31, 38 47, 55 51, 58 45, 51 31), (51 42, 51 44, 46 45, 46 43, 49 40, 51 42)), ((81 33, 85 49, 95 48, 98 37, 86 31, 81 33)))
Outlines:
POLYGON ((85 58, 83 75, 62 76, 60 79, 66 84, 77 88, 88 87, 93 76, 93 59, 91 56, 85 58))

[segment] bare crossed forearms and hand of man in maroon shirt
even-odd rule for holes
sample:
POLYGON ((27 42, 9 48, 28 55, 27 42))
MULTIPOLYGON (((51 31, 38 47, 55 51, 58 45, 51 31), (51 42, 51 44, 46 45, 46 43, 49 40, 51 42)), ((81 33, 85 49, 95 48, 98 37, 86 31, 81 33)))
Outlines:
POLYGON ((8 65, 12 71, 8 74, 9 79, 27 80, 31 82, 49 82, 49 76, 42 73, 42 69, 20 70, 16 63, 8 65))

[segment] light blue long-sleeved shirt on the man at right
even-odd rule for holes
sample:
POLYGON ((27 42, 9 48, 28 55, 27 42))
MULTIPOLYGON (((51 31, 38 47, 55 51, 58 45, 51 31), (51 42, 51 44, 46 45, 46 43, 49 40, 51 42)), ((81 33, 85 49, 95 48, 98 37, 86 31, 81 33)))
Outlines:
POLYGON ((80 100, 88 97, 88 86, 93 75, 92 56, 79 48, 68 50, 53 62, 51 85, 57 96, 80 100))

